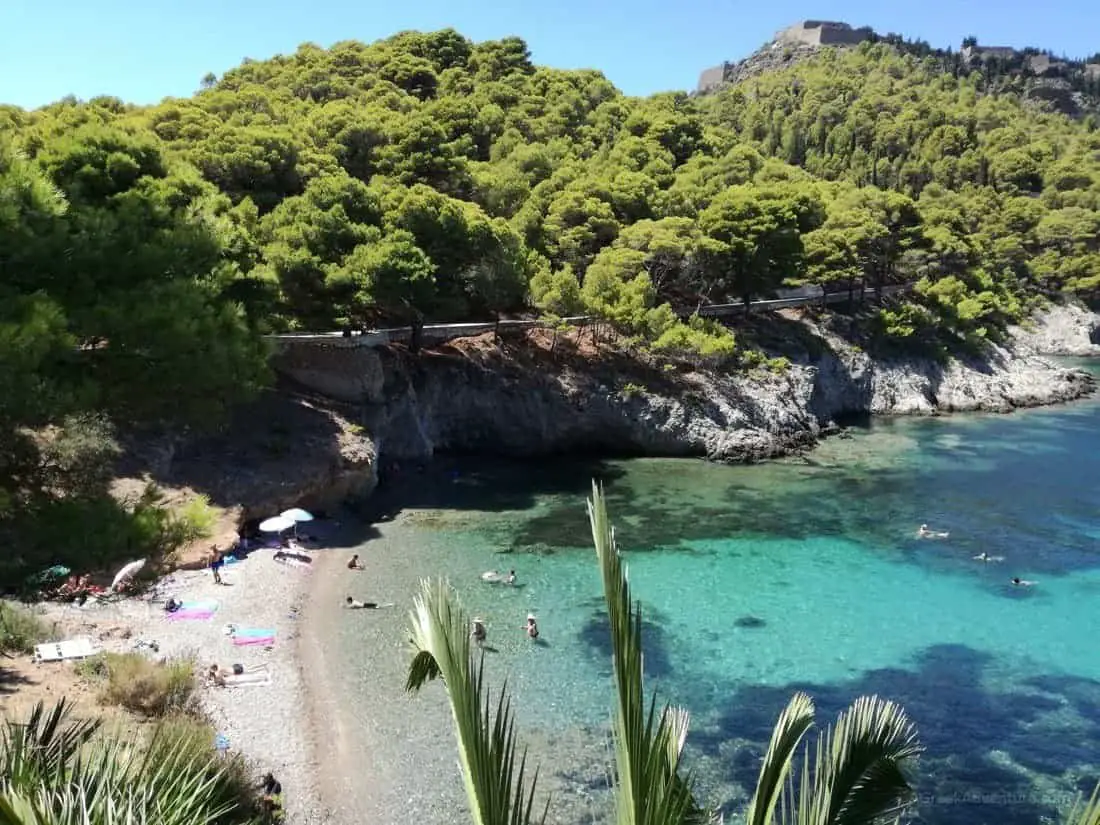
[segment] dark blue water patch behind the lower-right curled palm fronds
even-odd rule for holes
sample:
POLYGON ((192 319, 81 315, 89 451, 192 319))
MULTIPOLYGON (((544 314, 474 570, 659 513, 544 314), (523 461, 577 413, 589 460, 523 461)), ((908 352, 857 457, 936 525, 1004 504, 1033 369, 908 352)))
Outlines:
POLYGON ((818 726, 857 696, 875 694, 906 710, 926 747, 916 777, 919 821, 1034 825, 1056 816, 1070 794, 1040 792, 1028 772, 1044 774, 1049 789, 1067 771, 1091 773, 1100 762, 1100 683, 1044 678, 1028 692, 990 691, 981 682, 991 659, 941 645, 924 651, 915 670, 872 670, 840 684, 741 686, 717 724, 692 734, 690 743, 721 766, 722 780, 751 789, 772 726, 795 691, 813 696, 818 726), (1058 712, 1074 691, 1088 697, 1085 712, 1066 717, 1058 712), (730 740, 739 743, 733 752, 730 740))

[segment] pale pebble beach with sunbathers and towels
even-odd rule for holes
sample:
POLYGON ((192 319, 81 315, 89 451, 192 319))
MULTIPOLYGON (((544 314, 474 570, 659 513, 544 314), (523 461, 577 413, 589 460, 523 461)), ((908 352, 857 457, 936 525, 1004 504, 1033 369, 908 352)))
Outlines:
MULTIPOLYGON (((324 727, 316 729, 316 738, 311 730, 311 723, 321 722, 321 717, 310 713, 314 684, 309 669, 315 660, 302 652, 311 647, 306 639, 321 639, 324 632, 323 626, 309 627, 317 622, 318 605, 310 598, 315 580, 323 579, 324 568, 342 560, 344 552, 320 549, 309 554, 314 558, 311 569, 278 563, 270 549, 254 551, 224 568, 223 585, 216 584, 208 570, 176 571, 162 580, 168 592, 184 602, 217 602, 210 619, 168 620, 163 603, 144 600, 82 607, 46 604, 43 610, 59 624, 62 635, 100 639, 106 651, 134 650, 135 642, 144 640, 157 645, 157 652, 150 656, 193 657, 197 670, 212 663, 223 668, 240 663, 246 669, 265 666, 270 684, 201 686, 199 703, 218 733, 229 739, 231 751, 249 761, 257 781, 270 770, 283 783, 287 823, 320 824, 329 816, 321 804, 316 748, 328 747, 329 741, 324 727), (228 624, 273 628, 275 645, 271 649, 234 646, 226 632, 228 624)), ((72 663, 38 667, 48 673, 46 669, 70 668, 72 663)))

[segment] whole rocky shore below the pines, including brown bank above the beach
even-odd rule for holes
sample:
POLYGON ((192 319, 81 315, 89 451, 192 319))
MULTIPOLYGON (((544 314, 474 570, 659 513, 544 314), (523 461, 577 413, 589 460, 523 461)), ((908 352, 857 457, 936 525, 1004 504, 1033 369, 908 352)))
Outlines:
POLYGON ((767 324, 760 345, 789 365, 737 373, 542 331, 417 355, 354 339, 296 344, 273 360, 278 389, 221 432, 142 441, 121 475, 202 492, 229 524, 293 505, 330 509, 369 495, 383 464, 437 453, 758 461, 807 449, 851 418, 1008 413, 1096 389, 1087 373, 1045 358, 1100 354, 1100 316, 1074 305, 1013 330, 1008 346, 946 363, 872 358, 827 320, 767 324))

